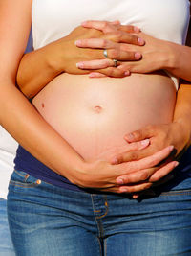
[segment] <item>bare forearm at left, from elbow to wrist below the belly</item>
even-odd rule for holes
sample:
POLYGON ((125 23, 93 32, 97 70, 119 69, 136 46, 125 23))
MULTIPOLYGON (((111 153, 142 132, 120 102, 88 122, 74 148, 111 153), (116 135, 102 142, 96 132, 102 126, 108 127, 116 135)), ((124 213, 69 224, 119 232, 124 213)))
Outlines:
POLYGON ((59 175, 70 178, 83 159, 37 113, 11 81, 1 81, 0 122, 34 157, 59 175), (3 86, 4 85, 4 86, 3 86))

